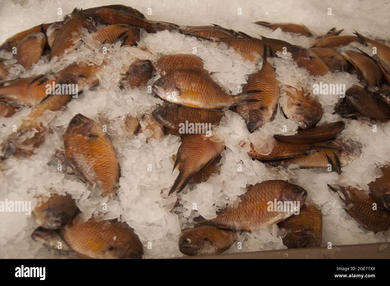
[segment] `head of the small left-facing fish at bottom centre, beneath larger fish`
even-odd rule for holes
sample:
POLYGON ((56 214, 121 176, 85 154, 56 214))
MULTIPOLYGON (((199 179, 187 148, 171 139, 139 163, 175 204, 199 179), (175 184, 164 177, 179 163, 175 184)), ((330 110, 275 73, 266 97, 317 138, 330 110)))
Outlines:
POLYGON ((193 231, 184 234, 179 240, 180 252, 186 255, 206 254, 207 252, 205 251, 212 247, 209 240, 193 231))

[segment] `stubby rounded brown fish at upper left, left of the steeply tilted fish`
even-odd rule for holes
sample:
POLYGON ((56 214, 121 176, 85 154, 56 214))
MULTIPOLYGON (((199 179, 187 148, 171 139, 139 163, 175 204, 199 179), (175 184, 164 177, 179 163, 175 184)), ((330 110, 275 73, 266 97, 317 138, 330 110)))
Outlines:
POLYGON ((45 45, 45 34, 41 32, 30 34, 19 42, 15 59, 25 69, 30 69, 32 64, 35 64, 43 55, 45 45))

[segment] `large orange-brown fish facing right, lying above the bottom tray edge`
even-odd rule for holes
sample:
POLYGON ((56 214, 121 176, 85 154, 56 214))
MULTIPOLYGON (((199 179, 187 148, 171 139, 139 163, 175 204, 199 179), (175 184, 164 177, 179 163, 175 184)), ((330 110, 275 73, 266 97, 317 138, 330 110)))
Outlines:
MULTIPOLYGON (((229 206, 217 213, 211 220, 194 219, 198 226, 216 226, 220 229, 251 230, 255 227, 278 224, 294 213, 304 204, 307 192, 304 188, 293 185, 287 181, 269 180, 252 185, 245 194, 240 195, 237 208, 229 206), (286 205, 285 209, 278 210, 277 206, 270 204, 274 201, 286 205), (293 204, 296 209, 294 210, 293 204), (287 208, 287 206, 289 206, 287 208)), ((280 204, 280 203, 277 203, 280 204)))

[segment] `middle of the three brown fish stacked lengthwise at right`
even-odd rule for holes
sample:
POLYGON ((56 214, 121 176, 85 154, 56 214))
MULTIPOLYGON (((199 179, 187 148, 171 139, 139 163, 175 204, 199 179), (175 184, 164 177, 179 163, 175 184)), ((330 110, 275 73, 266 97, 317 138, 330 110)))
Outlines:
MULTIPOLYGON (((246 144, 243 144, 243 146, 245 145, 246 144)), ((294 144, 294 143, 275 141, 272 151, 267 155, 263 155, 257 152, 254 144, 250 142, 250 150, 247 153, 252 159, 256 159, 260 161, 269 161, 269 160, 279 160, 279 159, 286 159, 286 158, 297 157, 302 155, 308 155, 313 153, 314 151, 313 149, 315 148, 323 149, 323 148, 331 148, 331 147, 332 147, 332 143, 330 141, 311 143, 311 144, 307 144, 307 143, 294 144)))

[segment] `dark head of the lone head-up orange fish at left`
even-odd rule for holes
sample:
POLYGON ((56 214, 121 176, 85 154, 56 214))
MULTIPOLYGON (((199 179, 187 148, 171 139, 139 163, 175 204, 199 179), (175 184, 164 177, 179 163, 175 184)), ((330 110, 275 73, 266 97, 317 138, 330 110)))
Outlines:
POLYGON ((82 135, 90 139, 96 139, 104 135, 101 126, 97 122, 82 114, 77 114, 71 119, 66 133, 73 136, 82 135))

